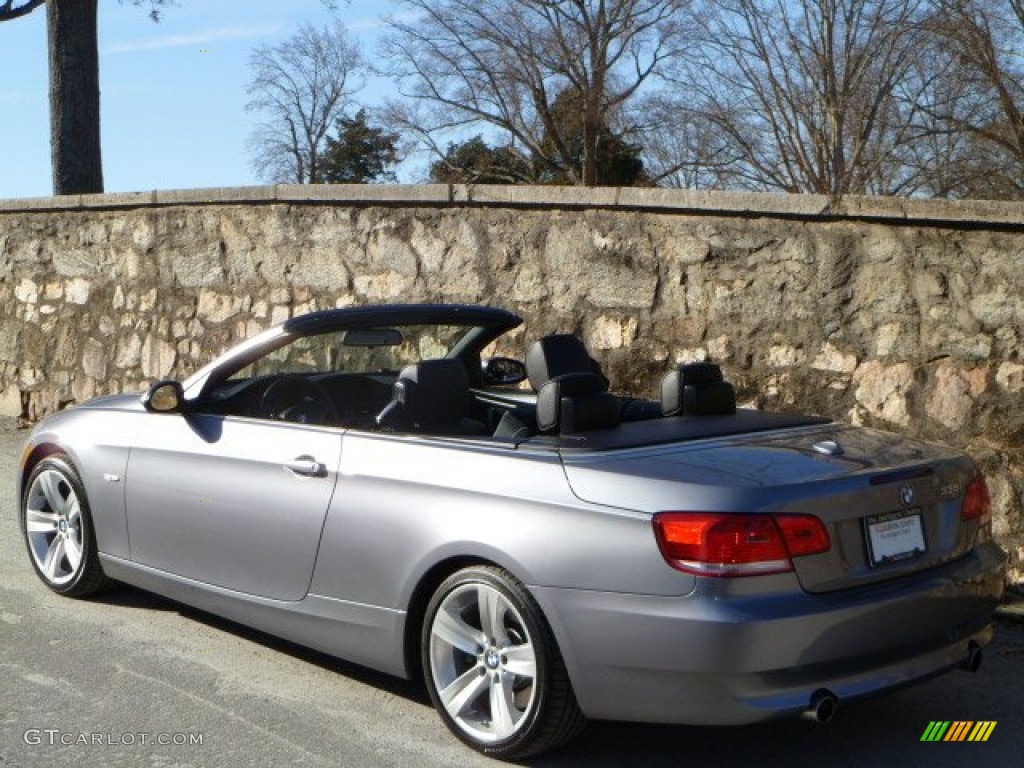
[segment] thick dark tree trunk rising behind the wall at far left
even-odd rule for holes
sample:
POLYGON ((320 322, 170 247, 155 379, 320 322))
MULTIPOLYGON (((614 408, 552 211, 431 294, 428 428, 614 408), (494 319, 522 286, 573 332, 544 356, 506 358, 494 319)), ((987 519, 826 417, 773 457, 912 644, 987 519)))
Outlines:
POLYGON ((98 0, 48 0, 53 194, 103 190, 99 144, 98 0))

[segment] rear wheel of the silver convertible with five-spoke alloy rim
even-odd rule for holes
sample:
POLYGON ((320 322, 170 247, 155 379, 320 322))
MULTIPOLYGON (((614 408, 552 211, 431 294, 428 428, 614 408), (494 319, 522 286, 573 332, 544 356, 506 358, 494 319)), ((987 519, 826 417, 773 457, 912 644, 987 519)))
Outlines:
POLYGON ((437 588, 422 651, 427 688, 444 724, 485 755, 536 755, 585 724, 540 607, 501 568, 464 568, 437 588))

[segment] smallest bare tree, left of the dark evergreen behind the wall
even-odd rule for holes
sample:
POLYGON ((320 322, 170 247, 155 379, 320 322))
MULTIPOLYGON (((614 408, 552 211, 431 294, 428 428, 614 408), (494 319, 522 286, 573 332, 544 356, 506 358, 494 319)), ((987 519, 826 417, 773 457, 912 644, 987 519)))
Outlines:
POLYGON ((250 139, 254 168, 269 181, 321 181, 328 131, 361 87, 358 46, 340 23, 304 25, 278 45, 256 48, 250 66, 246 109, 262 117, 250 139))

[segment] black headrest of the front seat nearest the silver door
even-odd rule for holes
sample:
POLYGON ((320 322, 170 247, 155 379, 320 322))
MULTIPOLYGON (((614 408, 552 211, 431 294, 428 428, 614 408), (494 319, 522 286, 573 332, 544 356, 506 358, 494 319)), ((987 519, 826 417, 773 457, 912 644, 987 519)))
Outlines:
POLYGON ((421 360, 407 366, 394 382, 392 401, 401 418, 427 427, 462 419, 469 411, 469 377, 461 360, 421 360))

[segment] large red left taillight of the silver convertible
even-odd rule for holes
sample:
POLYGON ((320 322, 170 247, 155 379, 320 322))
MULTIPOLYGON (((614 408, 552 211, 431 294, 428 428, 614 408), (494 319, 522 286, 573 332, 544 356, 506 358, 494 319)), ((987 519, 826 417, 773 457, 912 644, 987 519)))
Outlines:
POLYGON ((780 573, 793 569, 791 558, 831 546, 813 515, 658 512, 654 536, 674 568, 715 577, 780 573))

